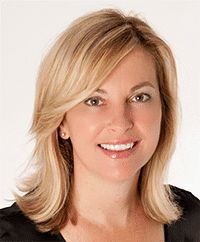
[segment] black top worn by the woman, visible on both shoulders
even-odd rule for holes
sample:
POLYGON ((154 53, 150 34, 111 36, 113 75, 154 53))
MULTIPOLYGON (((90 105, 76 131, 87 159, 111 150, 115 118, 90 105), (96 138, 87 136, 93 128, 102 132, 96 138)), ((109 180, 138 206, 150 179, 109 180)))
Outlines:
MULTIPOLYGON (((200 242, 200 200, 188 191, 171 187, 177 202, 183 208, 183 216, 171 225, 164 225, 165 242, 200 242)), ((37 231, 34 223, 22 213, 16 203, 0 209, 0 242, 43 241, 66 242, 60 233, 52 235, 50 232, 37 231)))

